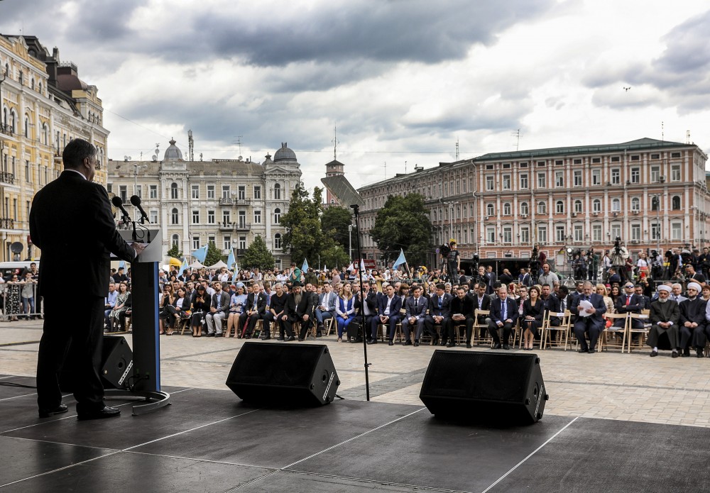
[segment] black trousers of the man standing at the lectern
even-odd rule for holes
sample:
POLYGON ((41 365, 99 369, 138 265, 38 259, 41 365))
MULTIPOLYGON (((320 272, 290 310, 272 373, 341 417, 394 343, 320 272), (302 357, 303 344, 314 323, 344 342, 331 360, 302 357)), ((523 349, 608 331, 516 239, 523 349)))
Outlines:
POLYGON ((72 388, 77 413, 104 408, 104 385, 99 377, 104 340, 104 298, 81 296, 67 316, 66 301, 45 297, 45 318, 37 357, 37 404, 55 409, 62 402, 59 373, 71 354, 72 388))

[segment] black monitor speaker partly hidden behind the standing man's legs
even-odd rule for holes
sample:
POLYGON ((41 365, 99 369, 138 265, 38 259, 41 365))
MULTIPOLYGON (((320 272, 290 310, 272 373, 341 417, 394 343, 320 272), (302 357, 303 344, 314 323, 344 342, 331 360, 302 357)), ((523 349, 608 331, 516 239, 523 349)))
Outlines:
MULTIPOLYGON (((70 348, 59 378, 59 386, 63 392, 74 392, 72 385, 75 367, 72 362, 70 348)), ((133 351, 124 336, 106 336, 101 355, 99 375, 105 389, 126 389, 129 387, 129 376, 133 375, 133 351)))

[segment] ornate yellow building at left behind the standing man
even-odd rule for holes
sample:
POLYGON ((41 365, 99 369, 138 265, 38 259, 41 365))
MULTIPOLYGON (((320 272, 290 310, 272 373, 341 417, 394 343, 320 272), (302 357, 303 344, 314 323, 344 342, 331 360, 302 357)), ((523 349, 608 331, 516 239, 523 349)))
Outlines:
POLYGON ((95 180, 107 183, 107 138, 97 88, 35 36, 0 34, 0 261, 40 256, 29 238, 32 198, 62 172, 62 150, 83 138, 99 150, 95 180))

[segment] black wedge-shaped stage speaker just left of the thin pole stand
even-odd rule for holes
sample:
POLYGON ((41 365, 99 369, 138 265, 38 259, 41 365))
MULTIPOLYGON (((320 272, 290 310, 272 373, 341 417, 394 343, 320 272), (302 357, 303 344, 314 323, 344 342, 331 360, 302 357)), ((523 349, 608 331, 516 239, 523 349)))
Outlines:
POLYGON ((239 399, 280 407, 328 404, 339 385, 324 344, 245 343, 226 380, 239 399))

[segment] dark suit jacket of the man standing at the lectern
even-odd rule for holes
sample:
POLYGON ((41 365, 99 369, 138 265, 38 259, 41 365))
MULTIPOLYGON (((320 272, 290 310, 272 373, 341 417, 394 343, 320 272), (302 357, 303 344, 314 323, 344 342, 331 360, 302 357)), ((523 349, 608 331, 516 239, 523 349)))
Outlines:
POLYGON ((39 295, 65 297, 67 267, 81 272, 82 292, 106 297, 109 252, 128 262, 135 252, 116 231, 106 189, 65 170, 32 201, 32 243, 42 250, 39 295))

